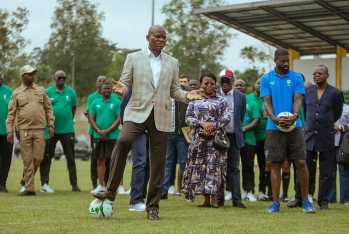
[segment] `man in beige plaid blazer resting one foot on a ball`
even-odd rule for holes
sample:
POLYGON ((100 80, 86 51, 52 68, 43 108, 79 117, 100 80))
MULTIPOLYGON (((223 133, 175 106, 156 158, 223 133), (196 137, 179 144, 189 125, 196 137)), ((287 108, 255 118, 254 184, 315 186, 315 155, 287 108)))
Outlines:
POLYGON ((166 32, 162 27, 152 26, 146 39, 149 42, 146 49, 127 55, 119 82, 112 80, 113 90, 117 94, 127 94, 130 85, 133 90, 125 109, 123 129, 111 155, 107 188, 94 197, 114 201, 125 170, 127 154, 133 142, 148 130, 150 179, 146 211, 150 220, 157 220, 167 137, 172 125, 170 97, 181 102, 201 100, 198 93, 202 90, 186 92, 181 89, 178 60, 162 52, 166 45, 166 32))

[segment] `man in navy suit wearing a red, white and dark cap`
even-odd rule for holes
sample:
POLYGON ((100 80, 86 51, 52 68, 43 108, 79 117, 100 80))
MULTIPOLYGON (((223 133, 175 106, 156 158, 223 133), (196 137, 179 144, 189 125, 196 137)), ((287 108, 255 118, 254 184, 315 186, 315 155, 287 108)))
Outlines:
MULTIPOLYGON (((242 122, 246 112, 246 96, 233 89, 234 76, 231 70, 224 69, 220 73, 221 88, 217 94, 224 97, 229 105, 231 121, 225 126, 230 141, 228 150, 228 172, 226 185, 232 193, 233 206, 246 208, 241 203, 239 158, 240 149, 245 145, 243 140, 242 122)), ((218 194, 218 205, 224 204, 224 186, 218 194)))

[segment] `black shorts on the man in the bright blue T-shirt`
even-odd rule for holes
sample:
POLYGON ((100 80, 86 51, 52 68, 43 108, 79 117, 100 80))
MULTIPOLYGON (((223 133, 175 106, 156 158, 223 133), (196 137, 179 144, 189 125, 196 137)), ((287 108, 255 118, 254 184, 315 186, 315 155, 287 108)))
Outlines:
POLYGON ((290 132, 268 130, 265 143, 266 160, 288 162, 295 159, 306 159, 304 130, 297 127, 290 132))

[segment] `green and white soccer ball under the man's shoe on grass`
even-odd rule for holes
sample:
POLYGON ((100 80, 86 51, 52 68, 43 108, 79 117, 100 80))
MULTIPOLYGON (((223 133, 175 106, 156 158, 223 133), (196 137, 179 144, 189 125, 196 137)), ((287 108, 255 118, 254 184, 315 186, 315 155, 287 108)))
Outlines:
POLYGON ((111 218, 114 212, 113 205, 108 199, 101 201, 95 199, 92 201, 89 207, 89 213, 92 218, 111 218))

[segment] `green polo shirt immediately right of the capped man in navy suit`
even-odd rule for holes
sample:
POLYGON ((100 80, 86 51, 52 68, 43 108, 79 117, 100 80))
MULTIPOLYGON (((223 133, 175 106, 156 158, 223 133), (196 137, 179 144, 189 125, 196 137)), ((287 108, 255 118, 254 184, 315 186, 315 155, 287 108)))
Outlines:
MULTIPOLYGON (((246 113, 244 116, 242 127, 251 124, 251 122, 256 118, 261 118, 258 106, 253 101, 251 101, 251 99, 246 98, 246 113)), ((256 138, 254 135, 254 129, 244 132, 244 141, 246 144, 249 145, 257 145, 256 138)))

